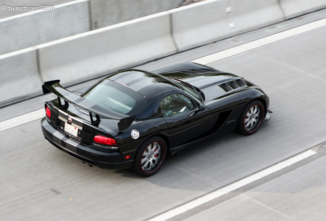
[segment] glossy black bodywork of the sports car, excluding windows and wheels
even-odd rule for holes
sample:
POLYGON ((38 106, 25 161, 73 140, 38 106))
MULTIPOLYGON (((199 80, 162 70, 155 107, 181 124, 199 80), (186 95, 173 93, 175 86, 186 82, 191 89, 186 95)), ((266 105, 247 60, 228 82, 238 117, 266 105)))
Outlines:
POLYGON ((125 70, 113 73, 105 80, 123 84, 146 99, 140 114, 128 127, 119 129, 118 123, 130 116, 111 113, 101 106, 80 99, 87 92, 86 89, 72 94, 53 82, 46 82, 45 87, 55 88, 52 92, 59 98, 46 102, 45 107, 51 109, 52 115, 51 119, 46 117, 42 120, 44 136, 53 145, 74 158, 101 168, 130 168, 139 147, 153 136, 165 140, 168 156, 171 156, 172 153, 197 145, 202 139, 233 131, 243 108, 252 100, 260 100, 266 113, 269 108, 268 96, 257 85, 234 74, 195 63, 181 63, 152 73, 125 70), (173 79, 192 84, 205 100, 186 93, 173 79), (159 100, 174 93, 191 99, 194 108, 173 116, 153 117, 159 107, 159 100), (60 105, 59 99, 68 101, 70 105, 60 105), (90 115, 93 114, 96 120, 98 116, 98 121, 90 120, 90 115), (80 137, 70 136, 63 131, 68 117, 72 118, 72 125, 78 126, 80 137), (133 129, 139 131, 139 138, 131 137, 133 129), (118 149, 107 150, 94 146, 95 135, 114 138, 118 149), (108 155, 114 156, 114 160, 108 155))

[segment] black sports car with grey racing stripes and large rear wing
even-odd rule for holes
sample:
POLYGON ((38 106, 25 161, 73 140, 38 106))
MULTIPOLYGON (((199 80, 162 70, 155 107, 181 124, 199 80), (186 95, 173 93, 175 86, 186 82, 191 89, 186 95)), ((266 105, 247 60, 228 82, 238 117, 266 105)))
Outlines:
POLYGON ((196 63, 154 71, 123 70, 70 92, 43 85, 45 138, 90 166, 154 174, 167 156, 237 129, 251 135, 269 120, 269 98, 234 74, 196 63))

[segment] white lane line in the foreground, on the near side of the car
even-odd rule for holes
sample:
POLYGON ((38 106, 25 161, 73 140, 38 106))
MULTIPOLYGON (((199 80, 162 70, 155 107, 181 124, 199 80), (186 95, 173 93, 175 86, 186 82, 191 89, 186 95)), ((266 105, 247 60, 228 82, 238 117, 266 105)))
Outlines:
POLYGON ((316 151, 310 149, 310 150, 307 150, 305 152, 302 152, 300 154, 298 154, 297 156, 294 156, 286 161, 283 161, 283 162, 280 162, 272 167, 269 167, 267 169, 264 169, 260 172, 257 172, 251 176, 248 176, 247 178, 244 178, 242 180, 239 180, 238 182, 235 182, 229 186, 226 186, 226 187, 223 187, 221 189, 218 189, 214 192, 211 192, 207 195, 204 195, 200 198, 197 198, 197 200, 194 200, 194 201, 191 201, 187 204, 184 204, 180 207, 177 207, 175 209, 172 209, 172 210, 169 210, 168 212, 165 212, 165 213, 162 213, 161 215, 158 215, 152 219, 149 219, 148 221, 164 221, 164 220, 167 220, 169 218, 172 218, 176 215, 179 215, 181 213, 184 213, 188 210, 191 210, 195 207, 198 207, 202 204, 205 204, 211 200, 214 200, 215 198, 218 198, 222 195, 225 195, 233 190, 236 190, 240 187, 243 187, 244 185, 247 185, 247 184, 250 184, 254 181, 257 181, 261 178, 263 178, 264 176, 267 176, 267 175, 270 175, 278 170, 281 170, 283 168, 286 168, 294 163, 297 163, 305 158, 308 158, 312 155, 314 155, 315 153, 317 153, 316 151))

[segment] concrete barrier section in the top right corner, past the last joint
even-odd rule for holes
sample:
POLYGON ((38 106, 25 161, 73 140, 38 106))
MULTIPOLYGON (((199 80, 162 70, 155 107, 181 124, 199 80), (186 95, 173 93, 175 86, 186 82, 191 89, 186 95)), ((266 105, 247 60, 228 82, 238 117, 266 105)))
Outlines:
POLYGON ((326 0, 281 0, 286 19, 326 8, 326 0))

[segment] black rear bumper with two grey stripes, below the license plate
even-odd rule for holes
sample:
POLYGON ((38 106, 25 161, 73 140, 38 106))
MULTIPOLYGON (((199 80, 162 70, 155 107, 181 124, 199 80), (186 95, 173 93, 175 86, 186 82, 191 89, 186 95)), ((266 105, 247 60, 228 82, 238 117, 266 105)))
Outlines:
POLYGON ((119 152, 101 152, 69 138, 53 128, 45 118, 41 120, 41 125, 45 139, 69 156, 82 162, 103 169, 128 169, 133 164, 133 160, 121 162, 119 152))

